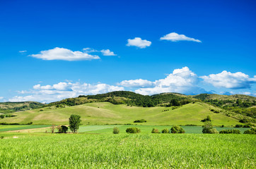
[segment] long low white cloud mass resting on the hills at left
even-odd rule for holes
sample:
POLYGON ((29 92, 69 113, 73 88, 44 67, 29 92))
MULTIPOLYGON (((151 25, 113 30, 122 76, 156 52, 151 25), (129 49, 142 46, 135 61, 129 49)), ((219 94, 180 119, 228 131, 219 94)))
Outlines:
POLYGON ((20 94, 26 94, 26 96, 13 96, 9 101, 40 101, 49 103, 79 95, 103 94, 120 90, 124 90, 124 87, 103 83, 88 84, 80 82, 59 82, 57 84, 45 86, 36 84, 30 91, 19 92, 20 94))

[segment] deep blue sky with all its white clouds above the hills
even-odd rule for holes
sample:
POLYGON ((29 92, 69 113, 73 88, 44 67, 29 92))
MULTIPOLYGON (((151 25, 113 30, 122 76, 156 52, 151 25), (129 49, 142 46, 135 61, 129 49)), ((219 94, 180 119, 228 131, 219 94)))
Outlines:
POLYGON ((0 101, 256 95, 255 1, 0 1, 0 101))

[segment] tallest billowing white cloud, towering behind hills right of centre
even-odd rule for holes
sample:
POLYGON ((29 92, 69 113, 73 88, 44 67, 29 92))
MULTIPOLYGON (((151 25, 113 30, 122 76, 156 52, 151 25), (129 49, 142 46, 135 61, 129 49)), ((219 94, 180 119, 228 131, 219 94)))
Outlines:
POLYGON ((197 87, 198 77, 189 68, 175 69, 165 79, 153 82, 153 87, 136 89, 135 92, 144 95, 165 92, 178 92, 182 94, 200 94, 205 90, 197 87))

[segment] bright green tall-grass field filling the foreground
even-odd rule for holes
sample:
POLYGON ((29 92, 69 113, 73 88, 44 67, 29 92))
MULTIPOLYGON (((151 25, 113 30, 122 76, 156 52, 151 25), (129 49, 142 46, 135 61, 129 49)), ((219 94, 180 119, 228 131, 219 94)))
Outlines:
POLYGON ((1 133, 0 168, 255 168, 248 134, 1 133))

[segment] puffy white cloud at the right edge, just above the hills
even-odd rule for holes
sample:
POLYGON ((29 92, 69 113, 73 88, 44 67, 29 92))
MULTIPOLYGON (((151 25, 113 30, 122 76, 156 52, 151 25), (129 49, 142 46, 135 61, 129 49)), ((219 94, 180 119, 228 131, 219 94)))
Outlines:
POLYGON ((202 76, 204 82, 214 85, 214 87, 224 87, 228 89, 246 89, 250 88, 252 83, 256 82, 256 76, 250 78, 245 73, 231 73, 224 70, 219 74, 202 76))

